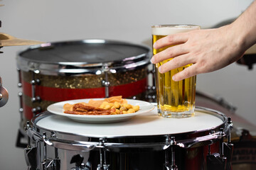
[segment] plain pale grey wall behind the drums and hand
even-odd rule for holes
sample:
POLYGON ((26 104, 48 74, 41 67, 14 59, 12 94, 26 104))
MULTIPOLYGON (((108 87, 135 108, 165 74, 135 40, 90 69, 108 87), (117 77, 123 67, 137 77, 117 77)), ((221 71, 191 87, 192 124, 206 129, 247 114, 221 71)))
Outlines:
MULTIPOLYGON (((0 32, 17 38, 41 40, 81 40, 105 38, 149 44, 150 26, 187 23, 208 28, 234 18, 252 0, 3 0, 0 4, 0 32)), ((15 147, 20 121, 16 54, 26 47, 3 47, 0 75, 9 90, 9 102, 0 108, 1 169, 26 169, 23 150, 15 147)), ((197 89, 220 95, 238 107, 237 113, 256 121, 256 70, 231 64, 225 69, 198 76, 197 89)))

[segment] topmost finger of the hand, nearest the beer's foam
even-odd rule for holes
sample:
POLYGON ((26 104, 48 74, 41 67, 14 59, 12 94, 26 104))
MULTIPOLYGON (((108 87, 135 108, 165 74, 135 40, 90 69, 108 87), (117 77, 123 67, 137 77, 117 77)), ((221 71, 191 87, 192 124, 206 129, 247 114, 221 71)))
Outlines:
POLYGON ((187 40, 187 33, 171 34, 154 42, 153 47, 154 49, 159 49, 167 45, 178 45, 186 42, 187 40))

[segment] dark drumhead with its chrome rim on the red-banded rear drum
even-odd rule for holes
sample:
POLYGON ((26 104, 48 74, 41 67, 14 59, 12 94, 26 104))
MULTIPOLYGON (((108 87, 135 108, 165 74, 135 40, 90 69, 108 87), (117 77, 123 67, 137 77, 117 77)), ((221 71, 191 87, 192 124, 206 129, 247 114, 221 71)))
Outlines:
POLYGON ((149 51, 142 45, 112 40, 49 42, 21 52, 18 67, 26 72, 54 70, 60 74, 92 73, 103 66, 125 71, 149 64, 149 51))

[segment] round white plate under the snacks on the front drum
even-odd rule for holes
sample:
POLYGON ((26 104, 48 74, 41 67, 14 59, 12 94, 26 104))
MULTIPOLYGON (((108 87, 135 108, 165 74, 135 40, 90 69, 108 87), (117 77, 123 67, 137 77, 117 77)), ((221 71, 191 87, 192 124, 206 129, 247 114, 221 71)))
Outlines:
MULTIPOLYGON (((79 99, 79 100, 72 100, 72 101, 61 101, 58 103, 54 103, 48 106, 47 111, 50 113, 54 113, 56 115, 63 115, 68 117, 72 120, 83 122, 83 123, 114 123, 123 120, 129 120, 130 118, 134 117, 135 115, 140 115, 142 113, 147 113, 154 109, 154 105, 148 103, 146 101, 138 101, 127 99, 127 103, 132 104, 134 106, 139 106, 139 111, 136 113, 128 113, 123 115, 73 115, 68 113, 63 113, 63 105, 65 103, 75 104, 80 102, 88 103, 91 98, 86 99, 79 99)), ((93 100, 103 100, 104 98, 92 98, 93 100)))

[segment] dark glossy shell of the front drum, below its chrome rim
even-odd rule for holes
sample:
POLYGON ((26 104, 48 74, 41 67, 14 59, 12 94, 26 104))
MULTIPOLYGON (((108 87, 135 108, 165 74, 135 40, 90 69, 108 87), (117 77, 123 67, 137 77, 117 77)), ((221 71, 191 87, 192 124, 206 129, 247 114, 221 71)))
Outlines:
MULTIPOLYGON (((37 152, 42 152, 43 142, 40 144, 41 149, 37 148, 37 152)), ((55 147, 47 145, 47 158, 54 159, 55 147)), ((90 152, 79 152, 68 149, 57 149, 58 159, 60 159, 60 169, 72 169, 75 164, 70 164, 70 160, 77 154, 84 158, 84 164, 89 164, 90 169, 97 169, 100 164, 100 151, 99 149, 91 150, 90 152)), ((127 170, 154 170, 164 169, 166 152, 171 154, 171 149, 161 151, 137 151, 137 152, 105 152, 107 165, 112 170, 127 169, 127 170)), ((211 154, 219 152, 219 142, 214 142, 211 145, 211 154)), ((176 148, 175 158, 178 169, 181 170, 198 170, 206 169, 206 156, 208 155, 208 145, 201 147, 194 147, 183 149, 176 148)), ((41 162, 43 162, 43 154, 36 157, 38 162, 38 169, 43 169, 41 162)), ((169 155, 169 162, 171 156, 169 155)))

